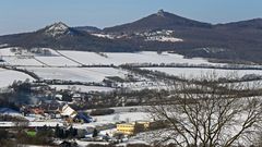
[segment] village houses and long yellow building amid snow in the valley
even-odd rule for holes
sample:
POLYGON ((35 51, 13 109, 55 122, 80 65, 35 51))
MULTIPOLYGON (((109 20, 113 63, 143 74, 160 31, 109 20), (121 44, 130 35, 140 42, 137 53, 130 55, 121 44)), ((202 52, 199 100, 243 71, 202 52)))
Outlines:
POLYGON ((121 121, 116 117, 115 121, 97 121, 95 118, 73 110, 69 105, 64 105, 60 109, 51 110, 41 107, 22 108, 21 113, 12 109, 1 108, 1 119, 14 119, 13 121, 4 121, 0 123, 0 128, 4 128, 13 133, 17 128, 34 138, 43 128, 52 130, 56 134, 57 130, 62 130, 61 136, 56 136, 57 144, 68 142, 69 144, 88 145, 98 142, 103 144, 118 144, 128 142, 129 137, 136 133, 150 131, 158 126, 157 122, 148 120, 140 121, 121 121), (23 115, 23 117, 22 117, 23 115), (9 118, 11 117, 11 118, 9 118), (22 119, 24 118, 24 119, 22 119), (15 120, 17 119, 17 120, 15 120), (67 134, 73 128, 71 137, 67 134), (78 142, 76 142, 78 140, 78 142))

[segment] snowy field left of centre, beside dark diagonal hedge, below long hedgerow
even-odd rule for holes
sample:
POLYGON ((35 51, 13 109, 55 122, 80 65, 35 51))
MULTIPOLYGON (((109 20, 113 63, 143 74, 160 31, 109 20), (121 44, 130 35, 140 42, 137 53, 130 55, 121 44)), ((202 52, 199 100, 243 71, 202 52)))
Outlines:
POLYGON ((44 79, 73 82, 102 82, 106 76, 124 76, 124 72, 112 68, 27 68, 44 79))

